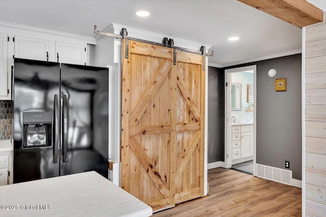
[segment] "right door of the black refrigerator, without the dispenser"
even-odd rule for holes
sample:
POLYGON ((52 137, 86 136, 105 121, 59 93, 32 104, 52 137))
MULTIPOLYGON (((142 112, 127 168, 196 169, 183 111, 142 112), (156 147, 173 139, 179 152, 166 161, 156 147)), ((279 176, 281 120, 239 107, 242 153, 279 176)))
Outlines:
POLYGON ((107 178, 108 69, 62 64, 61 89, 68 120, 61 175, 96 171, 107 178))

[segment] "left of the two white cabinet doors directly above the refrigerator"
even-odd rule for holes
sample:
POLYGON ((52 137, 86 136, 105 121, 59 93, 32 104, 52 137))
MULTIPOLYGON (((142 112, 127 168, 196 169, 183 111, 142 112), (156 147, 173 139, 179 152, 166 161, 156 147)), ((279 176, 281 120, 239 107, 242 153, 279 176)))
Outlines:
POLYGON ((49 40, 15 36, 15 57, 48 60, 49 40))

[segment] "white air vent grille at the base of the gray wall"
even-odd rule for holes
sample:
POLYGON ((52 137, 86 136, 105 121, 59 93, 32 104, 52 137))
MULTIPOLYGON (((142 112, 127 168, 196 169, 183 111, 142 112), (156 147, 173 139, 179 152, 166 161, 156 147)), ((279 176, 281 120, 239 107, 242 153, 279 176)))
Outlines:
POLYGON ((291 185, 292 171, 256 164, 257 177, 291 185))

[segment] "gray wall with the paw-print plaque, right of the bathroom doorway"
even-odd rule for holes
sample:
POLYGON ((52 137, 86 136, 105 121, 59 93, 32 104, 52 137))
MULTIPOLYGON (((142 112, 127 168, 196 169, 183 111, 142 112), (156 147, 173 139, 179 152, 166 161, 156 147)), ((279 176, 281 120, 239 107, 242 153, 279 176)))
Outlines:
MULTIPOLYGON (((285 169, 285 160, 288 160, 293 178, 301 180, 301 54, 221 70, 251 65, 257 65, 257 163, 285 169), (276 70, 275 77, 268 77, 269 69, 276 70), (275 91, 277 78, 287 79, 286 91, 275 91)), ((224 95, 224 90, 221 94, 224 95)), ((224 100, 221 106, 224 108, 224 100)), ((222 146, 224 143, 221 149, 222 146)))

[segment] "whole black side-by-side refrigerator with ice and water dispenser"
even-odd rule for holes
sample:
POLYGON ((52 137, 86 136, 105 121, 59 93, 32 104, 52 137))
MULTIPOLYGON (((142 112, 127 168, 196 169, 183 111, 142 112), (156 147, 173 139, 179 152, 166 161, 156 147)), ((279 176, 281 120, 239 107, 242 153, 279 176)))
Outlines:
POLYGON ((108 176, 108 69, 14 60, 14 183, 108 176))

